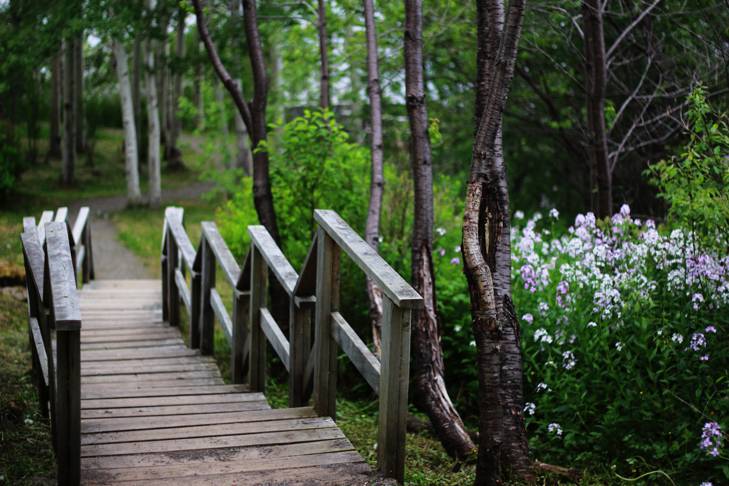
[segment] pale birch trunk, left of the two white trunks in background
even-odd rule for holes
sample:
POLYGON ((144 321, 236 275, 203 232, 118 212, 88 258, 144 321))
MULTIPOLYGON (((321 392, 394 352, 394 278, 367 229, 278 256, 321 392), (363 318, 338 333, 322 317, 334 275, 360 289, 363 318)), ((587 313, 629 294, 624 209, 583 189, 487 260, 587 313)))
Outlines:
POLYGON ((116 73, 119 78, 119 96, 121 98, 122 121, 124 125, 124 168, 127 177, 127 202, 140 204, 142 193, 139 190, 139 157, 137 148, 137 130, 134 120, 134 102, 132 83, 129 76, 127 52, 121 42, 112 43, 116 60, 116 73))

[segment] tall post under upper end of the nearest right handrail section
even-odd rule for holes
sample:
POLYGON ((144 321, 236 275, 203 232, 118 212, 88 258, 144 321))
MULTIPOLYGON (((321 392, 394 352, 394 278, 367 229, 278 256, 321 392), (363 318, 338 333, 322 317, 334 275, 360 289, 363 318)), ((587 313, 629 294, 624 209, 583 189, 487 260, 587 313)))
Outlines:
POLYGON ((339 247, 317 228, 316 312, 314 317, 314 409, 336 419, 337 343, 332 338, 332 312, 339 307, 339 247))

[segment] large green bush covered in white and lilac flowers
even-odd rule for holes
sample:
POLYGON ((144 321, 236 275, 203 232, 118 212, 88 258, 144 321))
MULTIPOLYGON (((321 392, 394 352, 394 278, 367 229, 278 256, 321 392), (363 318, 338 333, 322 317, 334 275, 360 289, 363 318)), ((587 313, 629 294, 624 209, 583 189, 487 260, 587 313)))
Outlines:
POLYGON ((536 455, 729 480, 726 456, 710 454, 729 426, 729 257, 627 206, 610 221, 578 215, 564 236, 552 221, 512 234, 536 455))

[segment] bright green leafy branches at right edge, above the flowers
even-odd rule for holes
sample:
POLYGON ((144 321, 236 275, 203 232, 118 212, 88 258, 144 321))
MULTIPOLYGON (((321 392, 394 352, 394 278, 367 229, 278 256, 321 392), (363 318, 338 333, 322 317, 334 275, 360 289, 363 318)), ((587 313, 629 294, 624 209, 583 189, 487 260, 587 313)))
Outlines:
POLYGON ((729 228, 729 125, 712 111, 702 87, 689 103, 686 146, 646 172, 669 204, 673 223, 692 228, 704 244, 721 245, 729 228))

